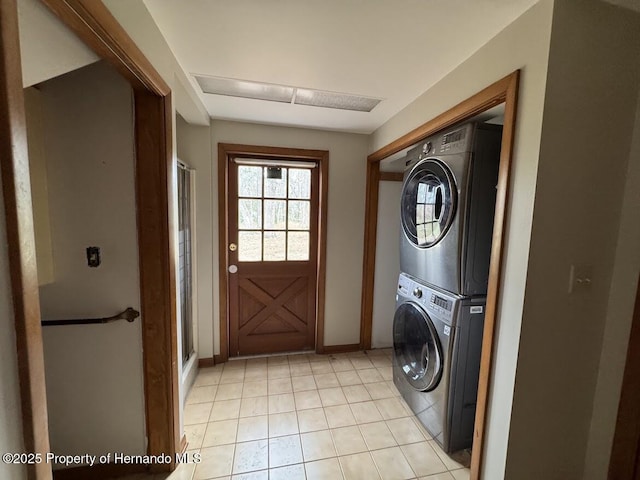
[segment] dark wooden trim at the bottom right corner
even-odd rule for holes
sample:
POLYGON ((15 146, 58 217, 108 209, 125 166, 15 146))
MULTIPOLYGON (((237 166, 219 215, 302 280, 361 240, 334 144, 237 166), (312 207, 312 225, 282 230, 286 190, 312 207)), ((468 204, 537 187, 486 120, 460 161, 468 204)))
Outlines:
POLYGON ((640 478, 640 279, 631 321, 616 430, 609 460, 609 480, 640 478))

